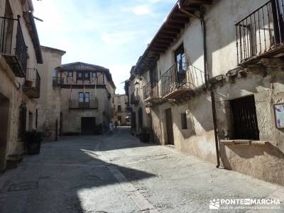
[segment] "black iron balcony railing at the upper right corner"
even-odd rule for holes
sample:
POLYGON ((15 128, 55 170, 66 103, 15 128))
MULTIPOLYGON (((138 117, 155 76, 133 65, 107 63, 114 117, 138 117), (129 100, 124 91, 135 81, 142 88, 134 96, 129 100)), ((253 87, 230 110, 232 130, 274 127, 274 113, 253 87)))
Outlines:
POLYGON ((271 0, 236 23, 238 63, 283 47, 284 0, 271 0))

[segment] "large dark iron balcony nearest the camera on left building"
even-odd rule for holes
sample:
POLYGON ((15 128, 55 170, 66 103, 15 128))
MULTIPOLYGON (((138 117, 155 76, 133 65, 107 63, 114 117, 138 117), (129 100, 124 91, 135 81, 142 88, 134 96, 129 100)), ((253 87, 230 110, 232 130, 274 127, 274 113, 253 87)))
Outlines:
POLYGON ((27 65, 27 47, 23 39, 18 19, 0 17, 0 54, 16 77, 25 77, 27 65))

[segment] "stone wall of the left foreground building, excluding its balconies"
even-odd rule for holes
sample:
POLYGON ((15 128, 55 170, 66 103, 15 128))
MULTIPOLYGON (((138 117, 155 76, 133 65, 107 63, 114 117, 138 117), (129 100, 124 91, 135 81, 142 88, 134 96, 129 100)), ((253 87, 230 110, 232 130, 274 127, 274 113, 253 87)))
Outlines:
MULTIPOLYGON (((13 16, 22 14, 23 11, 28 11, 28 7, 23 6, 21 1, 9 1, 11 4, 11 9, 13 11, 13 16)), ((4 16, 6 1, 0 1, 0 14, 4 16)), ((22 1, 25 3, 25 1, 22 1)), ((37 60, 35 58, 35 49, 31 40, 31 36, 28 33, 28 27, 23 18, 20 19, 21 30, 23 32, 23 37, 28 46, 28 68, 37 67, 37 60)), ((15 36, 16 37, 16 36, 15 36)), ((14 44, 16 39, 12 40, 14 44)), ((30 99, 23 92, 23 84, 25 82, 24 78, 15 77, 11 68, 6 63, 6 60, 0 56, 0 105, 3 107, 5 114, 0 114, 1 121, 5 121, 1 124, 1 134, 0 138, 0 171, 6 168, 6 160, 9 155, 13 153, 23 153, 24 146, 21 138, 18 135, 19 127, 19 111, 20 106, 23 103, 26 106, 26 131, 35 129, 35 119, 36 119, 36 109, 37 103, 36 99, 30 99), (8 119, 7 119, 8 116, 8 119), (3 119, 3 120, 2 120, 3 119)))

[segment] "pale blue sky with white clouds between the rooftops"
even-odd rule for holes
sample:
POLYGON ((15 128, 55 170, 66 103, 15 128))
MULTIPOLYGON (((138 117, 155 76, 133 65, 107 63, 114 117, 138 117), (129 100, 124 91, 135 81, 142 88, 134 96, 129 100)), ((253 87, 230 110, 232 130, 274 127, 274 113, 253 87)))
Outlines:
POLYGON ((65 50, 62 63, 87 62, 110 69, 116 93, 175 0, 33 1, 40 44, 65 50))

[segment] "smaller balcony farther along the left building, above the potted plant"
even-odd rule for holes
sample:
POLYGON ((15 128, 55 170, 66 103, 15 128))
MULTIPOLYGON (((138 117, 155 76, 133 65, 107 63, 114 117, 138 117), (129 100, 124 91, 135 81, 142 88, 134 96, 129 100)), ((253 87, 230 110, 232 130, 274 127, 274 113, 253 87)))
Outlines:
POLYGON ((26 81, 23 85, 23 92, 33 99, 40 97, 40 75, 38 74, 38 70, 34 68, 26 70, 26 81))

